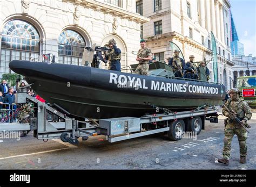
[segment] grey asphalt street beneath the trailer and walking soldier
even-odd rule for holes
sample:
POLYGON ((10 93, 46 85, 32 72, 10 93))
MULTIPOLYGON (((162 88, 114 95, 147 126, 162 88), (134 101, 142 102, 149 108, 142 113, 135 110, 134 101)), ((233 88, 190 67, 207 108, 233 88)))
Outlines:
POLYGON ((43 142, 32 132, 20 141, 0 140, 0 169, 255 169, 256 112, 249 121, 247 163, 241 164, 239 144, 232 141, 230 165, 215 163, 222 157, 224 117, 219 123, 206 121, 197 140, 170 141, 167 134, 109 143, 105 136, 73 146, 59 139, 43 142), (253 148, 254 147, 254 148, 253 148))

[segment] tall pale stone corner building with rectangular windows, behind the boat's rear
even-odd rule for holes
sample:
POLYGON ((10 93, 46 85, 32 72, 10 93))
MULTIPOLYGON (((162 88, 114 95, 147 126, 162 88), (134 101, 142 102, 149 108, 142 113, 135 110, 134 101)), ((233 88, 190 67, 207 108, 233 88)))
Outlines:
MULTIPOLYGON (((143 24, 143 38, 152 49, 154 56, 166 61, 173 56, 170 41, 177 44, 184 54, 194 55, 195 61, 212 56, 211 31, 217 42, 218 82, 227 89, 232 87, 234 63, 230 48, 230 7, 227 0, 137 0, 142 7, 142 15, 151 20, 143 24)), ((137 8, 137 12, 138 12, 137 8)), ((213 81, 213 64, 207 67, 213 81)), ((211 81, 210 80, 210 81, 211 81)))

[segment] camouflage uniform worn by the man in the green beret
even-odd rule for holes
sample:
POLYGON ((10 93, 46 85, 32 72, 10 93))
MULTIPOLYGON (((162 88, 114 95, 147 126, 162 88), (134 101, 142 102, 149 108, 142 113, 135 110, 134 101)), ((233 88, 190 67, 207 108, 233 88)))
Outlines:
MULTIPOLYGON (((138 57, 146 58, 151 56, 151 49, 145 47, 144 49, 141 48, 138 51, 138 57)), ((139 66, 136 68, 135 73, 139 75, 147 75, 149 72, 149 61, 140 61, 139 66)))

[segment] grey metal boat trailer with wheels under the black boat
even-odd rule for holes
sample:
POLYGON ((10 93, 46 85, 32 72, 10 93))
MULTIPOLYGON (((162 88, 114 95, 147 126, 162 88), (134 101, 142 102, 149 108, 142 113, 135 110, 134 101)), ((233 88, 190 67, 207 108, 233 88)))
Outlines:
POLYGON ((16 104, 32 104, 35 110, 26 119, 0 124, 0 132, 33 131, 37 139, 60 138, 72 144, 77 144, 80 137, 87 140, 90 136, 105 135, 109 142, 117 142, 161 132, 167 132, 169 138, 175 141, 181 139, 183 132, 195 131, 199 134, 204 129, 205 120, 218 123, 216 106, 200 107, 192 111, 156 112, 140 118, 122 117, 98 121, 85 118, 85 121, 79 121, 68 117, 68 112, 60 106, 53 104, 51 107, 26 92, 16 93, 16 104))

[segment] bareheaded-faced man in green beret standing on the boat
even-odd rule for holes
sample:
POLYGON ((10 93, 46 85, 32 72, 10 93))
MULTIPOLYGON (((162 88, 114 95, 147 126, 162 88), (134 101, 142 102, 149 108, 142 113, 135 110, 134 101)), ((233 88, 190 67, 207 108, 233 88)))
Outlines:
POLYGON ((152 53, 151 49, 146 47, 146 41, 144 39, 140 40, 140 47, 136 58, 139 65, 136 68, 135 73, 139 75, 147 75, 149 72, 149 61, 152 60, 152 53))

